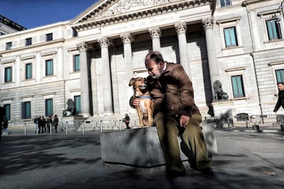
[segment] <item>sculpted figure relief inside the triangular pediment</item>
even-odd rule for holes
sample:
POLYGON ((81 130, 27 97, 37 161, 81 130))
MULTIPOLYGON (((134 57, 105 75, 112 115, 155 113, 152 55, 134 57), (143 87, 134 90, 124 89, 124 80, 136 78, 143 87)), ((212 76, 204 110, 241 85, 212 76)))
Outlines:
POLYGON ((180 0, 121 0, 115 5, 110 6, 108 10, 97 15, 97 17, 106 17, 106 16, 113 16, 115 14, 121 14, 125 12, 130 12, 133 10, 139 10, 147 7, 152 7, 156 5, 163 5, 166 3, 172 3, 174 1, 180 0))

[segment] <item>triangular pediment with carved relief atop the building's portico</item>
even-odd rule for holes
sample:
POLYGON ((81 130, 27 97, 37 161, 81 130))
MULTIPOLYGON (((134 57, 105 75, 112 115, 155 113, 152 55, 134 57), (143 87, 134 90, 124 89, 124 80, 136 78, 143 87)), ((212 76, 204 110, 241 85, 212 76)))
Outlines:
MULTIPOLYGON (((211 4, 215 0, 104 0, 97 1, 90 8, 74 18, 69 24, 75 29, 95 27, 128 21, 148 14, 159 14, 188 8, 190 6, 211 4)), ((215 3, 214 3, 215 5, 215 3)))

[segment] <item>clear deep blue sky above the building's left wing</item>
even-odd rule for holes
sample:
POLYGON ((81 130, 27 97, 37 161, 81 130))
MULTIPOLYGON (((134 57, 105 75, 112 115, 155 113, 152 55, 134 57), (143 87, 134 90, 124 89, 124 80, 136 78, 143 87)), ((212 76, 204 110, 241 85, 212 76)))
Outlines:
POLYGON ((31 29, 70 21, 97 0, 0 0, 0 14, 31 29))

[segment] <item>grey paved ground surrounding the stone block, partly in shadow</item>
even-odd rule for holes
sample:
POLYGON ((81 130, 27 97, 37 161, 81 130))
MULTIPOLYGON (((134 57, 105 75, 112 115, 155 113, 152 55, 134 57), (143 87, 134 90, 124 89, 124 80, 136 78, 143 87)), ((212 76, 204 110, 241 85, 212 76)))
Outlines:
POLYGON ((216 130, 215 175, 189 169, 185 177, 138 175, 106 166, 99 131, 56 135, 13 134, 0 142, 0 188, 283 188, 282 133, 216 130))

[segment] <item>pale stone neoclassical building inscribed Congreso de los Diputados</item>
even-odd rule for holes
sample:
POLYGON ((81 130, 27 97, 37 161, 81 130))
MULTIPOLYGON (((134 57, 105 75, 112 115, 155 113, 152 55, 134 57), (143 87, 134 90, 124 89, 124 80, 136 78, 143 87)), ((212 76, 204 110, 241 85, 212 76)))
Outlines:
POLYGON ((0 105, 11 125, 62 116, 68 99, 89 120, 137 116, 128 83, 147 76, 155 50, 184 66, 203 116, 272 114, 283 27, 278 0, 97 1, 71 21, 0 36, 0 105))

